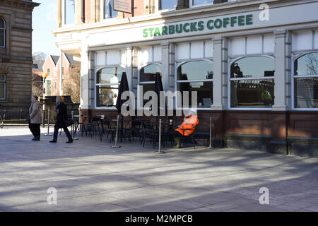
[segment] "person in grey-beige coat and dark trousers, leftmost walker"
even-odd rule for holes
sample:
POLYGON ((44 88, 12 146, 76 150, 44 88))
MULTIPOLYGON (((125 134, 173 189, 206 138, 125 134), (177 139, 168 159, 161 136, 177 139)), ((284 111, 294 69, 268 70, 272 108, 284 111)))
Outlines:
POLYGON ((37 95, 31 96, 31 106, 29 108, 29 115, 29 129, 34 136, 32 141, 40 141, 40 125, 42 124, 42 110, 37 95))

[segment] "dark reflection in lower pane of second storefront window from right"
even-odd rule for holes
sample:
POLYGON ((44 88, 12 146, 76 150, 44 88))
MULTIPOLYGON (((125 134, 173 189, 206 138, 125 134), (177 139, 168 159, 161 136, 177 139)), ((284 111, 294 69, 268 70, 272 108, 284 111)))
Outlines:
POLYGON ((271 107, 273 79, 231 81, 231 107, 271 107))

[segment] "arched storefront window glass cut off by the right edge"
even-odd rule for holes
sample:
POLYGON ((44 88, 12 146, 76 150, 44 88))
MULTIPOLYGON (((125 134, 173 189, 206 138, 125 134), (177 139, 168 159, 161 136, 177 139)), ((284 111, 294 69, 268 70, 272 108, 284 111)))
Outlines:
POLYGON ((293 77, 294 107, 318 108, 318 52, 296 59, 293 77))

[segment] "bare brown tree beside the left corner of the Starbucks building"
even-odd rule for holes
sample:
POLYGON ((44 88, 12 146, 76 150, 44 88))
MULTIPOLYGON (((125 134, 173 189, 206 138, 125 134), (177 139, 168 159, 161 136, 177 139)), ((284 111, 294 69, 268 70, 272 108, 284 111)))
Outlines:
POLYGON ((63 79, 63 93, 70 95, 74 103, 81 102, 81 66, 71 69, 71 72, 63 79))

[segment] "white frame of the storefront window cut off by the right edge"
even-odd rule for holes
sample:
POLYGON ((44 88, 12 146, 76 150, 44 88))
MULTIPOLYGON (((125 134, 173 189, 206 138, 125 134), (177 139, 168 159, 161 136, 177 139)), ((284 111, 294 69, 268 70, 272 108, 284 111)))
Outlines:
POLYGON ((318 78, 318 74, 317 75, 301 75, 301 76, 295 76, 295 61, 297 59, 300 59, 300 57, 303 57, 307 54, 312 54, 312 53, 317 53, 318 54, 318 50, 312 50, 312 51, 304 51, 301 53, 294 53, 292 54, 292 59, 291 59, 291 104, 292 104, 292 110, 294 111, 317 111, 318 108, 310 108, 310 107, 306 107, 306 108, 301 108, 301 107, 295 107, 295 78, 318 78))

